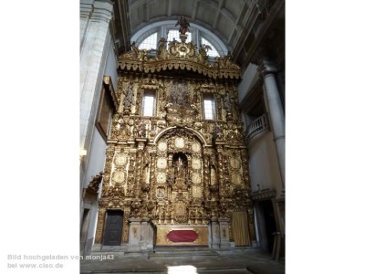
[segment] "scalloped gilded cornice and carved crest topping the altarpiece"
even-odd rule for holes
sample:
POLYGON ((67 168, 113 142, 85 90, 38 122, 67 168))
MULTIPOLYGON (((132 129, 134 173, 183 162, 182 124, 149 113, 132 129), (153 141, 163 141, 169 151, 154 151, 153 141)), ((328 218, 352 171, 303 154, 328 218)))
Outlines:
POLYGON ((198 52, 193 43, 174 40, 166 49, 166 41, 162 38, 157 52, 156 57, 151 57, 150 51, 132 45, 129 52, 118 58, 119 69, 142 73, 186 69, 211 79, 241 79, 241 68, 231 61, 230 56, 215 58, 214 63, 209 63, 206 50, 201 48, 198 52))

